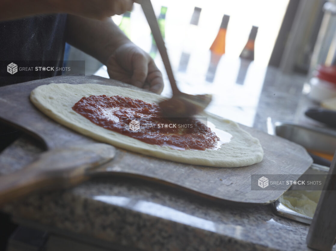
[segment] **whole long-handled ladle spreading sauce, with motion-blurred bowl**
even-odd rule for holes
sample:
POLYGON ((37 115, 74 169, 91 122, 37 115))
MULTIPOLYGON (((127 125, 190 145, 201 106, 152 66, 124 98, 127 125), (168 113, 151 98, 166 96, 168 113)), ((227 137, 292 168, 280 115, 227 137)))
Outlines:
POLYGON ((147 22, 152 30, 154 40, 160 52, 173 91, 171 99, 159 103, 164 115, 168 117, 189 117, 203 111, 209 105, 212 96, 210 94, 191 95, 183 93, 177 88, 153 5, 150 0, 141 0, 137 2, 140 2, 147 22))

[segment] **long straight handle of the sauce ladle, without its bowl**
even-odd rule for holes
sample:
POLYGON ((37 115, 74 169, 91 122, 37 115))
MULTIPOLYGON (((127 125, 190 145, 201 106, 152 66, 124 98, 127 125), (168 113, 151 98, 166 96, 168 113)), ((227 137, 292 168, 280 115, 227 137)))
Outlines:
POLYGON ((148 24, 149 24, 149 26, 152 30, 152 34, 153 34, 155 43, 156 43, 156 45, 158 47, 158 50, 160 52, 160 55, 161 55, 163 64, 165 66, 170 85, 171 85, 171 89, 173 91, 173 95, 180 94, 181 92, 179 91, 179 89, 177 88, 177 85, 176 85, 174 74, 173 74, 173 71, 171 69, 170 61, 169 61, 169 58, 168 58, 165 42, 162 38, 161 31, 160 31, 160 28, 159 28, 159 24, 157 22, 151 0, 141 0, 140 4, 141 4, 142 10, 143 10, 143 13, 145 14, 145 17, 147 19, 147 22, 148 22, 148 24))

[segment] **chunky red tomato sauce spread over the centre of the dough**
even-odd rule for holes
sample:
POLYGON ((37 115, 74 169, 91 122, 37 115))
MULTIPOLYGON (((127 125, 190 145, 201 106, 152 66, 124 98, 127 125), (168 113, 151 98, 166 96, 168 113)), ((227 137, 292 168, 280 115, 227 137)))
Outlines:
POLYGON ((140 99, 92 95, 81 98, 72 109, 105 129, 148 144, 170 146, 174 149, 218 149, 219 142, 227 143, 232 137, 219 130, 223 135, 219 139, 209 127, 196 118, 161 117, 162 113, 157 104, 140 99))

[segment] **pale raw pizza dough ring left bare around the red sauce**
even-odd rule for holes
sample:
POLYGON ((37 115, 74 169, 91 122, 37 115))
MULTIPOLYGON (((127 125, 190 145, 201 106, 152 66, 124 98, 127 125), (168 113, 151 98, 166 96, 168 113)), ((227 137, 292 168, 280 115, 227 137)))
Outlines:
POLYGON ((229 143, 217 150, 176 150, 168 146, 151 145, 131 137, 104 129, 72 110, 82 97, 91 95, 120 95, 158 103, 163 97, 154 93, 123 87, 98 84, 49 84, 35 88, 31 101, 47 116, 64 126, 95 140, 109 143, 136 153, 187 164, 213 167, 241 167, 258 163, 263 158, 259 140, 242 130, 237 123, 203 112, 199 117, 207 117, 209 124, 232 135, 229 143))

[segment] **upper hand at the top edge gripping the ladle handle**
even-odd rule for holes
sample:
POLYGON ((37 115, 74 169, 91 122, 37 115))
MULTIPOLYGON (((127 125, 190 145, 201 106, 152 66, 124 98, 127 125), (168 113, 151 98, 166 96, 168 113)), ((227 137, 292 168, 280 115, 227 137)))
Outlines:
POLYGON ((57 12, 102 20, 132 10, 133 0, 49 0, 57 12))

